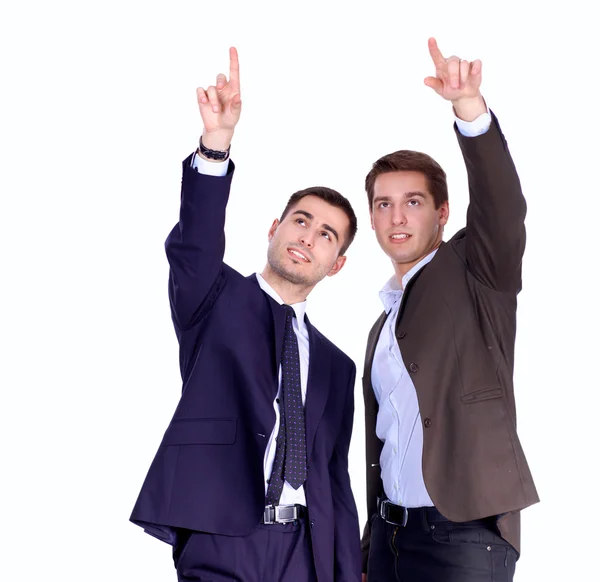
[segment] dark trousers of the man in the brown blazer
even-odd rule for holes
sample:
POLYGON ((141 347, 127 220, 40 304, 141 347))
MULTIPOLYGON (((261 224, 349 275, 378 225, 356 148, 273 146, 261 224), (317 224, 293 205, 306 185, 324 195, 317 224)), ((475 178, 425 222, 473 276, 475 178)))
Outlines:
POLYGON ((434 508, 408 510, 406 527, 373 518, 368 582, 512 582, 518 555, 496 519, 447 520, 434 508))

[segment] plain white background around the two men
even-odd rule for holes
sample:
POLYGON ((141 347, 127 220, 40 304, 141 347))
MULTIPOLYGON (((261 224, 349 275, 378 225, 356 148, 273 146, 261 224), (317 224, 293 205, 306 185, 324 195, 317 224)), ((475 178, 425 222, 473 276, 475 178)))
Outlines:
MULTIPOLYGON (((16 4, 16 3, 15 3, 16 4)), ((466 174, 450 106, 423 84, 442 51, 483 61, 483 93, 528 200, 515 386, 542 503, 516 580, 599 580, 597 56, 593 3, 28 2, 0 15, 3 336, 0 579, 174 580, 170 548, 128 522, 180 392, 163 242, 195 88, 237 46, 243 112, 226 260, 265 263, 287 197, 340 190, 359 233, 309 298, 359 369, 392 274, 363 182, 397 149, 466 174), (585 6, 588 5, 589 8, 585 6)), ((350 470, 365 519, 360 385, 350 470)))

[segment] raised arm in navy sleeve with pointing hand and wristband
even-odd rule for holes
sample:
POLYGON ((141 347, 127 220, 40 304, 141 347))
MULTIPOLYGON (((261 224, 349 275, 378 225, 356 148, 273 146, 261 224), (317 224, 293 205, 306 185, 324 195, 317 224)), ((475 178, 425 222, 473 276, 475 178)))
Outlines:
MULTIPOLYGON (((242 106, 235 48, 229 55, 229 80, 220 74, 216 86, 197 90, 204 124, 202 145, 227 154, 242 106)), ((183 163, 179 222, 165 243, 171 313, 179 330, 192 327, 220 290, 225 209, 233 170, 229 160, 211 159, 200 150, 183 163)))

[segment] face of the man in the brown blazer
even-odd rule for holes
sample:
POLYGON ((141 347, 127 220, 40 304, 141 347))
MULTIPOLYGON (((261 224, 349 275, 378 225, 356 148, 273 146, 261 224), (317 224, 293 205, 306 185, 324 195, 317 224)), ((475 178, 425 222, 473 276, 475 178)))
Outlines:
POLYGON ((404 275, 439 246, 448 222, 448 203, 435 208, 420 172, 381 174, 373 191, 371 226, 396 272, 404 275))

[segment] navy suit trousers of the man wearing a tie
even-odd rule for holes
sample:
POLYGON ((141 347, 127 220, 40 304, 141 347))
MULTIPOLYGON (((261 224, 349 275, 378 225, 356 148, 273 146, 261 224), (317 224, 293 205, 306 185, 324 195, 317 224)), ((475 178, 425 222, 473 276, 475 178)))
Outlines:
POLYGON ((259 525, 247 536, 181 530, 173 549, 179 582, 316 582, 305 520, 259 525))

